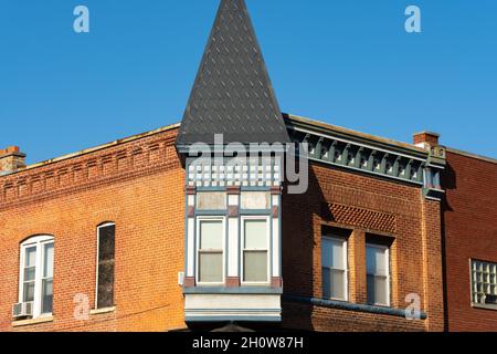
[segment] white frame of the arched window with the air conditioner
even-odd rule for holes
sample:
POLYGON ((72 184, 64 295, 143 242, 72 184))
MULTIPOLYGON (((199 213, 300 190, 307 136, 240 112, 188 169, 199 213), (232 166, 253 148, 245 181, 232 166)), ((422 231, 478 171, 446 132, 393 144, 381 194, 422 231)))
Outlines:
MULTIPOLYGON (((24 264, 25 264, 25 250, 29 248, 36 248, 36 254, 34 260, 34 300, 33 300, 33 319, 50 317, 52 313, 42 313, 42 291, 43 291, 43 257, 44 247, 46 244, 53 244, 54 247, 54 260, 55 260, 55 246, 53 236, 41 235, 34 236, 21 243, 20 247, 20 263, 19 263, 19 303, 24 302, 24 264)), ((54 271, 55 262, 52 271, 54 271)), ((53 291, 53 278, 52 278, 52 291, 53 291)), ((53 306, 53 303, 52 303, 53 306)))

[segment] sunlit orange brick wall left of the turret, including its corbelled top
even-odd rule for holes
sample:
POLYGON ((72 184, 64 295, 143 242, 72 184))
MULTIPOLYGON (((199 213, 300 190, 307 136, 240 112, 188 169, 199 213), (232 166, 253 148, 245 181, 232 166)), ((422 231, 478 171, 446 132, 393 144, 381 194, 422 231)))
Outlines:
POLYGON ((183 170, 176 131, 0 178, 0 331, 166 331, 184 327, 183 170), (96 227, 116 222, 113 313, 76 321, 74 296, 95 305, 96 227), (19 244, 54 237, 54 321, 12 326, 19 244))

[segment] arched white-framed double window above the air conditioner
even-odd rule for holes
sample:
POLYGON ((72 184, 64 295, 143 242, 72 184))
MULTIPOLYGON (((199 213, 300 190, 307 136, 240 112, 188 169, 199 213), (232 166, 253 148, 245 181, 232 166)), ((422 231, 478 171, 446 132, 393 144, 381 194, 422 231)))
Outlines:
POLYGON ((21 243, 19 302, 32 303, 33 317, 53 311, 53 237, 36 236, 21 243))

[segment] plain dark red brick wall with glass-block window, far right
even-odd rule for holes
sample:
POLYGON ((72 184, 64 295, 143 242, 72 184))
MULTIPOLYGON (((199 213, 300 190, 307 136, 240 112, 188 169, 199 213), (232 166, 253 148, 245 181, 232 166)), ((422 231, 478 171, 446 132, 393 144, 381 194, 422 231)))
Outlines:
POLYGON ((497 263, 497 164, 447 152, 443 175, 450 331, 497 331, 497 311, 472 308, 469 259, 497 263))

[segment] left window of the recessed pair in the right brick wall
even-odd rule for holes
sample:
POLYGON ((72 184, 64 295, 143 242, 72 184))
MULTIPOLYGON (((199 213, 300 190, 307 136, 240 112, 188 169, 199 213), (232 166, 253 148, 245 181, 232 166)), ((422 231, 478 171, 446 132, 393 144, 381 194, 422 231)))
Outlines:
POLYGON ((348 301, 347 240, 322 237, 321 239, 322 296, 348 301))

